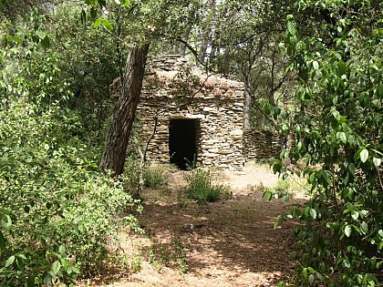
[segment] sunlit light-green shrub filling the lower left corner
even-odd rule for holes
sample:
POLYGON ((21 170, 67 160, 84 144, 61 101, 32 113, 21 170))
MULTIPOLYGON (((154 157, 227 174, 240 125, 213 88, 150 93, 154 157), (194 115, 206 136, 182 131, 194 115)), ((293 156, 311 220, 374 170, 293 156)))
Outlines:
POLYGON ((8 105, 0 110, 0 284, 73 282, 97 270, 134 202, 98 175, 76 138, 57 141, 52 107, 36 115, 22 100, 8 105))

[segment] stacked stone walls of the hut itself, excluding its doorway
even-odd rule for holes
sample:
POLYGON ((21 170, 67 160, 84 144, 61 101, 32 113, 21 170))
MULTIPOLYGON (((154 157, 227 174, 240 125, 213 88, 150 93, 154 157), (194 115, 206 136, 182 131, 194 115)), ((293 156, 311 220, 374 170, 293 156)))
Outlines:
POLYGON ((148 159, 169 162, 170 122, 175 118, 190 118, 196 125, 198 162, 224 169, 243 169, 243 83, 217 76, 205 81, 207 75, 181 56, 156 57, 148 61, 148 66, 154 75, 144 81, 138 107, 141 138, 149 138, 153 119, 159 115, 158 132, 151 139, 148 159), (174 93, 172 84, 182 66, 189 67, 192 77, 199 77, 200 82, 205 83, 201 90, 191 87, 191 95, 183 97, 174 93), (198 97, 192 93, 198 93, 198 97), (186 102, 187 109, 182 107, 182 103, 186 102), (187 111, 187 115, 182 111, 187 111), (199 117, 194 117, 197 115, 199 117))

